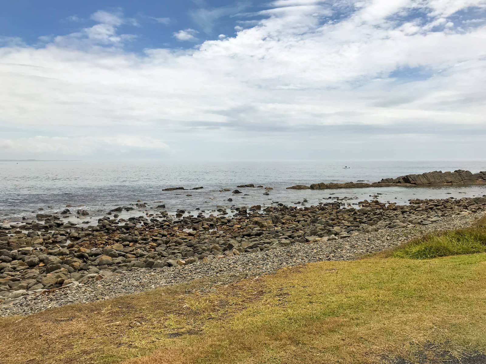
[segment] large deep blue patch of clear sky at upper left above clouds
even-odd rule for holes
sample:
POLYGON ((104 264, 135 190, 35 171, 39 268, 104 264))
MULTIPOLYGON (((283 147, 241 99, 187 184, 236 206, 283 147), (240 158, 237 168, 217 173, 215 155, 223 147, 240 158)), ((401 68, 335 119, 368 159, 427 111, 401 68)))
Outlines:
POLYGON ((235 22, 243 18, 239 12, 253 12, 267 8, 267 2, 241 1, 228 3, 208 1, 3 1, 0 4, 0 34, 20 37, 29 44, 38 42, 41 35, 75 33, 93 26, 92 15, 103 11, 130 18, 119 31, 137 35, 137 41, 127 49, 187 48, 191 43, 179 42, 174 32, 194 29, 200 40, 218 39, 218 35, 235 34, 235 22), (100 5, 103 4, 102 7, 100 5))

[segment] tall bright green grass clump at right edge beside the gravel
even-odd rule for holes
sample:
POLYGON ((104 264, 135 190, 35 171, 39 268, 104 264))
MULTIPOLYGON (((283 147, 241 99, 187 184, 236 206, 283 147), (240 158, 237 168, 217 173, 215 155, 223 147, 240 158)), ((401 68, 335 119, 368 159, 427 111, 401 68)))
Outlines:
POLYGON ((397 258, 432 259, 486 252, 486 218, 474 226, 437 232, 414 239, 393 252, 397 258))

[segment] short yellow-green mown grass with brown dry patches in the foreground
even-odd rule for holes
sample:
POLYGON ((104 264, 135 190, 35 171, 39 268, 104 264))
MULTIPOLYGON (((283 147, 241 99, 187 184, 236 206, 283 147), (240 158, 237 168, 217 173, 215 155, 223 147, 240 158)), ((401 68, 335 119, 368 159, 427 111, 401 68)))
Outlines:
POLYGON ((486 253, 374 257, 286 268, 211 294, 185 294, 197 282, 156 289, 0 318, 0 362, 372 364, 414 362, 428 342, 485 352, 485 274, 486 253))

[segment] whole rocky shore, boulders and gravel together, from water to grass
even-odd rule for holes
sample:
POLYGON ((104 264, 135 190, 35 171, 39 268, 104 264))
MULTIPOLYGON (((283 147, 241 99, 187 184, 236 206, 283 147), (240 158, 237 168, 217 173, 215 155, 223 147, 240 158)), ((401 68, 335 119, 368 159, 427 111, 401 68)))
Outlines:
POLYGON ((59 216, 49 215, 42 216, 43 223, 3 228, 0 315, 28 314, 215 274, 248 275, 316 260, 353 259, 403 241, 395 237, 459 227, 486 211, 485 197, 358 204, 279 204, 263 211, 261 206, 242 207, 235 208, 233 217, 224 211, 218 216, 179 212, 178 217, 158 212, 117 219, 119 207, 95 226, 64 224, 59 216))

